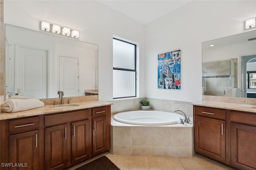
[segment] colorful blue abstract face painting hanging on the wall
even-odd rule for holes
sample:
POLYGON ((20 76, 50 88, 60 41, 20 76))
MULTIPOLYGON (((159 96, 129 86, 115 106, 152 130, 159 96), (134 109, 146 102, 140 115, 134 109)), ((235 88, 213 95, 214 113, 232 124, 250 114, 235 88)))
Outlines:
POLYGON ((180 89, 180 50, 158 54, 158 89, 180 89))

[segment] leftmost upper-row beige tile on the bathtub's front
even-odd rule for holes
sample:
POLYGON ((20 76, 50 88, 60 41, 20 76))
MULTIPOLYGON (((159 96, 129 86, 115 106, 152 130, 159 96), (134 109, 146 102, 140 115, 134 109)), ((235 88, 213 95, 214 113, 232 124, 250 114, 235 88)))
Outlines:
POLYGON ((113 145, 132 145, 131 127, 113 126, 113 145))

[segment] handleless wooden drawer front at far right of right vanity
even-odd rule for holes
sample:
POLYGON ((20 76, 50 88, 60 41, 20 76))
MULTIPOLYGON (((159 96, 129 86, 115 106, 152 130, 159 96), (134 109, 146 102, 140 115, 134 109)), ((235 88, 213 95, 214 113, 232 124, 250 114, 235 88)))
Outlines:
POLYGON ((236 123, 244 123, 246 125, 256 126, 256 114, 243 112, 230 112, 230 121, 236 123))

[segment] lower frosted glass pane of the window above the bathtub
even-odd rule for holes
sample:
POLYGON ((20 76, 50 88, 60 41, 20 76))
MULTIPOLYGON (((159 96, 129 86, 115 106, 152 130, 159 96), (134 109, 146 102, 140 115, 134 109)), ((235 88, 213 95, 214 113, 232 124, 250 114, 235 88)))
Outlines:
POLYGON ((136 96, 136 72, 113 70, 113 98, 136 96))

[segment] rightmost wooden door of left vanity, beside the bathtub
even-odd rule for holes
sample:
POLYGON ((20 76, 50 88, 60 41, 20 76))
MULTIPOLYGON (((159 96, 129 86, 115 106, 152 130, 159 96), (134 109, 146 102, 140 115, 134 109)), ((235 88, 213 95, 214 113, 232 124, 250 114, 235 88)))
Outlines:
POLYGON ((92 125, 92 154, 97 155, 108 150, 106 146, 106 116, 93 118, 92 125))

